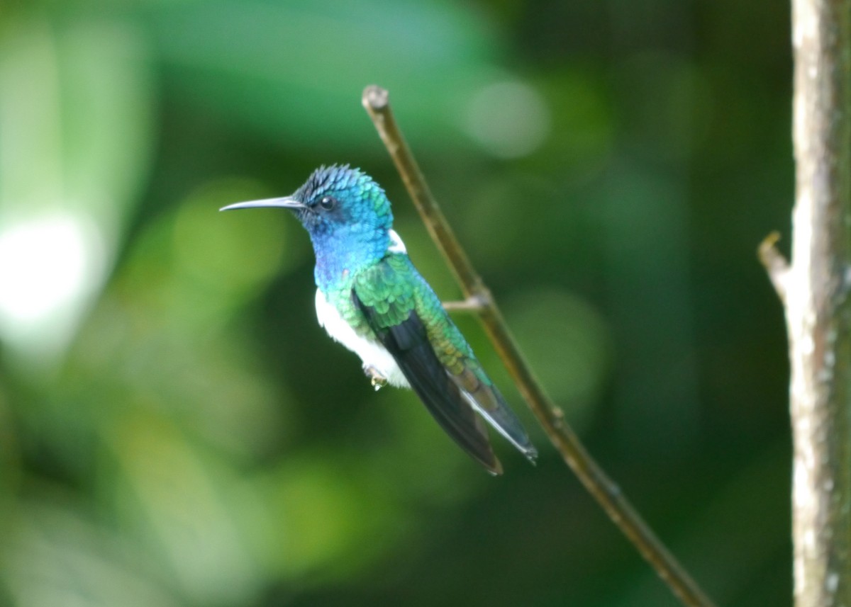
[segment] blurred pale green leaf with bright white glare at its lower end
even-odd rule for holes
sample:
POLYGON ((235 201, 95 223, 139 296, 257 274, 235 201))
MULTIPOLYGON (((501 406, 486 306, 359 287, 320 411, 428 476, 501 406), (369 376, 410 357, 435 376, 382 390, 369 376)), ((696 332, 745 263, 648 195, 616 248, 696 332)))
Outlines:
POLYGON ((0 37, 0 334, 54 360, 111 269, 151 147, 146 47, 110 21, 0 37))

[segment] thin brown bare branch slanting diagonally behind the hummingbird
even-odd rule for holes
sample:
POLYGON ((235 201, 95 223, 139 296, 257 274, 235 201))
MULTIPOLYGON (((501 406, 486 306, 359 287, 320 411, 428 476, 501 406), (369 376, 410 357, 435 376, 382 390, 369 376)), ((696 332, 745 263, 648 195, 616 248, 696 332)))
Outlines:
POLYGON ((552 444, 556 446, 564 461, 573 469, 585 488, 597 499, 609 518, 620 527, 625 536, 671 588, 671 592, 688 607, 711 607, 710 599, 650 530, 635 508, 632 508, 630 502, 620 492, 620 488, 585 451, 585 446, 564 421, 562 411, 553 405, 535 379, 532 370, 520 354, 517 343, 511 337, 511 332, 505 325, 500 309, 494 302, 488 287, 472 267, 446 218, 437 207, 437 202, 431 196, 426 180, 420 173, 420 168, 414 161, 414 156, 393 118, 387 91, 376 86, 367 87, 363 91, 363 107, 366 108, 375 128, 378 129, 398 172, 402 175, 408 193, 414 200, 417 211, 420 212, 437 247, 447 259, 465 298, 468 300, 478 298, 484 303, 479 318, 485 332, 488 333, 494 349, 500 355, 508 372, 511 373, 517 388, 523 394, 523 398, 538 418, 552 444))

